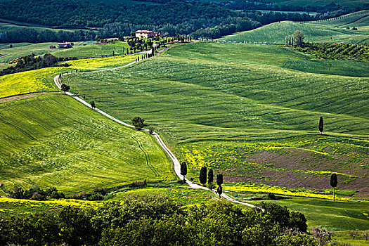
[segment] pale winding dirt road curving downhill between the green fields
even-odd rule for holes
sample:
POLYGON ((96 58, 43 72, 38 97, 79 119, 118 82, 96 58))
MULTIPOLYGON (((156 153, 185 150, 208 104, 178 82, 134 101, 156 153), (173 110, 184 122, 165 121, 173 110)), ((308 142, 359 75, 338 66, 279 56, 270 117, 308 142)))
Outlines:
MULTIPOLYGON (((168 48, 171 48, 172 46, 169 46, 168 48)), ((133 65, 134 63, 137 63, 136 61, 128 63, 127 65, 123 65, 120 67, 113 67, 113 68, 107 68, 107 69, 103 69, 103 70, 94 70, 94 71, 88 71, 88 72, 102 72, 102 71, 108 71, 108 70, 116 70, 122 67, 129 67, 130 65, 133 65)), ((79 72, 79 73, 83 73, 83 72, 79 72)), ((63 75, 68 75, 68 73, 62 74, 63 75)), ((70 75, 70 73, 69 73, 70 75)), ((59 81, 59 75, 57 75, 56 77, 54 77, 54 82, 56 84, 56 86, 58 86, 58 88, 61 90, 61 85, 60 85, 60 81, 59 81)), ((79 98, 78 96, 75 96, 75 94, 67 92, 65 93, 68 96, 72 96, 72 98, 75 98, 77 101, 83 103, 84 105, 86 105, 87 107, 91 108, 91 105, 89 103, 87 103, 86 101, 84 101, 83 99, 79 98)), ((116 119, 115 117, 112 117, 111 115, 108 115, 106 112, 103 112, 103 110, 100 110, 98 108, 91 108, 93 110, 96 110, 97 112, 101 113, 101 115, 104 115, 105 117, 108 117, 112 120, 114 120, 115 122, 124 125, 125 127, 131 127, 131 128, 135 128, 134 126, 132 126, 131 124, 127 124, 125 122, 120 121, 119 119, 116 119)), ((143 131, 148 131, 148 129, 143 129, 143 131)), ((181 175, 181 164, 179 163, 179 160, 176 158, 176 156, 171 152, 171 150, 167 147, 167 145, 164 143, 164 141, 162 141, 162 138, 160 138, 159 134, 157 134, 156 132, 153 132, 153 136, 155 136, 157 143, 159 143, 159 145, 163 148, 163 150, 169 155, 169 157, 171 158, 173 164, 174 164, 174 171, 176 172, 176 175, 179 176, 179 179, 183 180, 183 176, 181 175)), ((197 183, 193 183, 191 181, 189 181, 188 179, 186 179, 186 182, 188 183, 188 185, 190 186, 190 188, 194 188, 194 189, 202 189, 202 190, 209 190, 212 191, 214 193, 214 190, 210 190, 207 187, 204 186, 200 186, 197 183)), ((250 203, 246 203, 246 202, 240 202, 238 200, 235 200, 233 198, 231 198, 229 195, 226 195, 225 193, 222 193, 221 196, 223 198, 225 198, 226 200, 229 200, 231 202, 235 202, 238 203, 240 205, 246 205, 249 207, 255 207, 254 205, 251 205, 250 203)))

